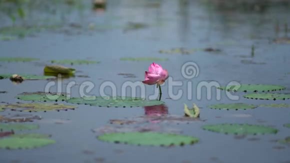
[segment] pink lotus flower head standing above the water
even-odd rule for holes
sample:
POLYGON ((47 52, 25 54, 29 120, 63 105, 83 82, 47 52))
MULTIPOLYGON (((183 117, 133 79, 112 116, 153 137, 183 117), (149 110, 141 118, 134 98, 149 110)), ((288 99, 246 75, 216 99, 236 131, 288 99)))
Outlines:
POLYGON ((142 81, 144 84, 161 85, 168 78, 168 71, 163 69, 161 65, 152 63, 150 64, 148 71, 145 71, 145 80, 142 81))

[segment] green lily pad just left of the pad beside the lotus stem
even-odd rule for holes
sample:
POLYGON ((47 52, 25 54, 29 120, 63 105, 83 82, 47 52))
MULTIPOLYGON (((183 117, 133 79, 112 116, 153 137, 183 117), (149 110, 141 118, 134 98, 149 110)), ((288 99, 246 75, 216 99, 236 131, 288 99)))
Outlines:
POLYGON ((53 92, 23 92, 15 96, 15 98, 28 101, 64 101, 67 93, 53 93, 53 92))

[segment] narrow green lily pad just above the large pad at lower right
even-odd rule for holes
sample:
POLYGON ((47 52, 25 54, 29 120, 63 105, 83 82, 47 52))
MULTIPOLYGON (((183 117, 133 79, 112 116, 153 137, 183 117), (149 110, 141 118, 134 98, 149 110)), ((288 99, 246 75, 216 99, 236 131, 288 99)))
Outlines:
POLYGON ((209 108, 214 108, 214 109, 248 109, 248 108, 256 108, 257 106, 253 105, 253 104, 246 104, 246 103, 219 103, 219 104, 212 104, 210 106, 208 106, 209 108))

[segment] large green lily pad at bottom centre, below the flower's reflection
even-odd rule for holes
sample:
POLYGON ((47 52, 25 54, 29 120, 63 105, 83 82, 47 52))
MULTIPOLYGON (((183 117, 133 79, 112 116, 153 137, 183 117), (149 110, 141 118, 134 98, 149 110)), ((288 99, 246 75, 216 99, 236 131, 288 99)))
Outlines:
POLYGON ((193 144, 199 141, 193 136, 158 132, 116 132, 105 133, 97 137, 99 140, 126 143, 132 145, 173 146, 193 144))

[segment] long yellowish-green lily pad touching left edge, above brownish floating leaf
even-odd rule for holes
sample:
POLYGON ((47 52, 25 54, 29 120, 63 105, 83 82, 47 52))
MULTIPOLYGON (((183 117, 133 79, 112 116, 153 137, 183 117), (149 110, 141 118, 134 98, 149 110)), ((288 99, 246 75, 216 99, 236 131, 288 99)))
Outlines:
POLYGON ((14 103, 0 105, 0 108, 11 109, 13 111, 37 112, 74 109, 75 106, 57 103, 14 103))

